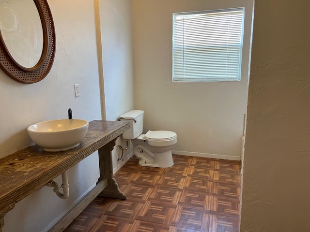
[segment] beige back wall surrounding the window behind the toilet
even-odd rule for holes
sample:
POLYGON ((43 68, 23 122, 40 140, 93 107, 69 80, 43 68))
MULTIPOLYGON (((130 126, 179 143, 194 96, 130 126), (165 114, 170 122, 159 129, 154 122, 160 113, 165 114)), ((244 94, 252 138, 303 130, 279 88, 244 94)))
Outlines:
POLYGON ((246 6, 244 49, 248 51, 253 2, 132 2, 135 108, 145 111, 145 131, 175 131, 177 154, 240 160, 248 57, 243 56, 240 82, 172 82, 172 13, 246 6))

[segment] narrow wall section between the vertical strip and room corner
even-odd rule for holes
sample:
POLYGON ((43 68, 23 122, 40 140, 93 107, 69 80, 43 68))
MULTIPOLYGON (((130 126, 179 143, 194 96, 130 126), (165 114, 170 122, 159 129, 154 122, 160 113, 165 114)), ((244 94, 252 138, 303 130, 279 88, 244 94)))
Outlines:
MULTIPOLYGON (((99 3, 106 120, 119 120, 134 104, 131 1, 99 0, 99 3)), ((118 160, 122 151, 117 145, 126 147, 122 136, 112 153, 114 171, 132 152, 130 147, 124 151, 124 161, 118 160)))

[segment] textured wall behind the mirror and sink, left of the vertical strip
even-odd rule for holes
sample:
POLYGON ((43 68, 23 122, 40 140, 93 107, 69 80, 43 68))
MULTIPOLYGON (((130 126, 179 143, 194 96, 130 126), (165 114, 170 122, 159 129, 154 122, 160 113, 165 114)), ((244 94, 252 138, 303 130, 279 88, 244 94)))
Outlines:
MULTIPOLYGON (((73 117, 101 119, 93 1, 48 0, 56 29, 56 57, 47 77, 20 84, 0 71, 0 157, 32 145, 27 127, 35 122, 73 117), (74 97, 74 84, 81 96, 74 97)), ((27 7, 25 10, 27 11, 27 7)), ((70 197, 62 200, 43 187, 16 204, 5 216, 3 232, 43 232, 95 184, 94 154, 68 172, 70 197)), ((56 178, 61 183, 61 177, 56 178)))

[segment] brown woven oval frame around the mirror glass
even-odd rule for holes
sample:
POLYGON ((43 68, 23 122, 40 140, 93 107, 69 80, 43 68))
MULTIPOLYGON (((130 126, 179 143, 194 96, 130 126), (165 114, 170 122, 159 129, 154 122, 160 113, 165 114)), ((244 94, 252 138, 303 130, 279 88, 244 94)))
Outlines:
POLYGON ((43 49, 41 58, 33 67, 18 64, 8 51, 0 31, 0 68, 14 80, 31 84, 41 81, 49 73, 56 50, 55 27, 47 0, 33 0, 40 15, 43 29, 43 49))

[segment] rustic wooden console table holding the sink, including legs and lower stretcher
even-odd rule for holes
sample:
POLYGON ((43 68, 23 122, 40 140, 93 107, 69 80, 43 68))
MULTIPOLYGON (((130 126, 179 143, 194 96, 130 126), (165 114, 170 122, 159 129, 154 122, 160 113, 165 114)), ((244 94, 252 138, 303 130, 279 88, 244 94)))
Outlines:
POLYGON ((5 214, 15 203, 97 150, 100 176, 96 186, 49 232, 64 230, 98 195, 126 199, 113 178, 111 151, 117 137, 129 128, 129 122, 96 120, 89 123, 84 140, 68 151, 46 152, 33 145, 0 159, 0 232, 5 214))

